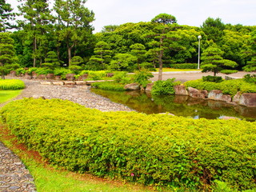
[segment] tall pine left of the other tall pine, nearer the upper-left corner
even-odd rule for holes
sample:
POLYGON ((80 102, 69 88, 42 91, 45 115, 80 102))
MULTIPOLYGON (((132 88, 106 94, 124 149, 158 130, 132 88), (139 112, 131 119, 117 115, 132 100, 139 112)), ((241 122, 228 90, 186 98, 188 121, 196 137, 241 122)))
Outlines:
POLYGON ((37 59, 39 58, 41 64, 42 58, 46 56, 46 33, 53 18, 47 0, 18 0, 18 2, 22 2, 18 9, 24 17, 24 20, 19 21, 19 25, 26 31, 26 38, 32 41, 33 66, 36 66, 37 59))

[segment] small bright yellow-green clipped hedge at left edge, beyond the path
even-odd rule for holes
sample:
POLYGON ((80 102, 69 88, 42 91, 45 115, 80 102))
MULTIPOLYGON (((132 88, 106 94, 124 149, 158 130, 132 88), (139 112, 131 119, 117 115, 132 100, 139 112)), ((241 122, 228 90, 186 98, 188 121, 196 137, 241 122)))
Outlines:
POLYGON ((0 90, 22 90, 25 83, 18 79, 0 79, 0 90))

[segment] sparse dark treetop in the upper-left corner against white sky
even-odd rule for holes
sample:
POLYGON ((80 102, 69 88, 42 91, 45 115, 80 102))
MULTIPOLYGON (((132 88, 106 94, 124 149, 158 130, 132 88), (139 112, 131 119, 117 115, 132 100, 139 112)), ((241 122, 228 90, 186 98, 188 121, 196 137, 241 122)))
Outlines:
POLYGON ((8 29, 12 29, 14 26, 10 23, 10 20, 15 18, 15 14, 12 13, 13 9, 6 0, 0 0, 0 32, 4 32, 8 29))

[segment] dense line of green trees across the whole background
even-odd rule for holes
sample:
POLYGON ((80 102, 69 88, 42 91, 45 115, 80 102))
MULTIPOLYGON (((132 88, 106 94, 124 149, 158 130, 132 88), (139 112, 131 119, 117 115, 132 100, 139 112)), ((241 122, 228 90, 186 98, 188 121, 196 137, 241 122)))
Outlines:
MULTIPOLYGON (((134 71, 195 63, 201 35, 206 64, 212 64, 209 57, 217 53, 209 51, 218 49, 214 57, 222 59, 217 68, 256 70, 256 26, 233 26, 220 18, 207 18, 201 27, 182 26, 173 15, 158 14, 150 22, 104 26, 93 34, 94 12, 86 8, 86 0, 55 0, 52 10, 47 0, 19 2, 23 19, 16 21, 19 30, 9 35, 22 67, 134 71)), ((1 32, 14 28, 10 19, 15 14, 5 0, 0 0, 0 14, 1 32)))

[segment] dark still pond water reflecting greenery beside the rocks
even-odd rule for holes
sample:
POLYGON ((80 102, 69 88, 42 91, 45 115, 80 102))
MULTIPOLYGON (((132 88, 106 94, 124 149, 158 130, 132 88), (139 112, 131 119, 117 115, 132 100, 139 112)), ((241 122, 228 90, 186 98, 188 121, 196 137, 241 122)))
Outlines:
POLYGON ((190 98, 181 95, 154 96, 144 91, 110 91, 91 89, 95 94, 109 98, 112 102, 122 103, 131 109, 145 114, 170 113, 190 118, 216 119, 235 117, 256 120, 256 107, 236 106, 226 102, 190 98))

